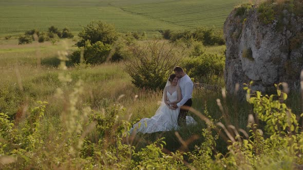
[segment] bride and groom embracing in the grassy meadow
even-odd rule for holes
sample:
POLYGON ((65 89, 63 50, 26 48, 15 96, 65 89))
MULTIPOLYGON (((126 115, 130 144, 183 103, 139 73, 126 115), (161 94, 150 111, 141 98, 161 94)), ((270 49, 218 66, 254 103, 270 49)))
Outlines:
POLYGON ((195 124, 191 116, 186 116, 192 106, 192 92, 194 83, 179 66, 174 69, 175 74, 169 76, 164 88, 161 105, 151 118, 143 118, 134 124, 131 132, 154 133, 177 130, 186 124, 195 124))

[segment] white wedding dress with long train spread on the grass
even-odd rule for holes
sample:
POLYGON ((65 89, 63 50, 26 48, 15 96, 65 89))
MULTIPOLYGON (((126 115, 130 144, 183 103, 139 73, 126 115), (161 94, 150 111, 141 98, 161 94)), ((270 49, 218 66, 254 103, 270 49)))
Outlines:
MULTIPOLYGON (((178 99, 177 91, 170 94, 167 91, 167 98, 169 101, 176 101, 178 99)), ((136 133, 154 133, 163 131, 173 131, 178 130, 178 115, 180 108, 176 110, 169 109, 166 104, 161 104, 160 108, 157 110, 156 115, 151 118, 143 118, 136 124, 134 124, 130 130, 136 133)), ((196 124, 197 122, 191 116, 186 116, 186 124, 196 124)))

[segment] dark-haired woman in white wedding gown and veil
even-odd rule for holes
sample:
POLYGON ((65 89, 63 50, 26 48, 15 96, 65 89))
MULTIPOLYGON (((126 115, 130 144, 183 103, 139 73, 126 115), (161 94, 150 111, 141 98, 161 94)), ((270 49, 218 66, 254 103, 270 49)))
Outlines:
MULTIPOLYGON (((156 114, 151 118, 143 118, 130 129, 141 133, 154 133, 163 131, 177 130, 178 115, 180 108, 173 109, 172 104, 181 101, 181 89, 178 86, 178 77, 176 74, 169 76, 164 88, 162 102, 156 114)), ((195 124, 196 121, 191 116, 186 116, 186 124, 195 124)))

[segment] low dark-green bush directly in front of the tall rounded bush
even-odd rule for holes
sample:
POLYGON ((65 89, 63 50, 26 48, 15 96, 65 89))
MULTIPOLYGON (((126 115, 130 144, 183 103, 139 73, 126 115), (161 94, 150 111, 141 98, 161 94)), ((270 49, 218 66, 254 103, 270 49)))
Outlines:
MULTIPOLYGON (((84 56, 83 59, 86 63, 90 64, 99 64, 105 62, 111 51, 111 46, 108 44, 103 44, 101 41, 97 41, 94 44, 91 44, 89 40, 85 42, 84 56)), ((72 63, 80 63, 81 49, 73 52, 70 55, 72 63)))

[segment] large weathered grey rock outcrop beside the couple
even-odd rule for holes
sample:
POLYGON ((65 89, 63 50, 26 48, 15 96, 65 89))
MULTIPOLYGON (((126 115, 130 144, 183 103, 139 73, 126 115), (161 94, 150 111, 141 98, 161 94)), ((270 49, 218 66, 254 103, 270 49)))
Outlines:
POLYGON ((268 92, 274 84, 287 82, 298 89, 303 66, 303 18, 287 10, 264 24, 256 7, 234 9, 224 23, 226 40, 225 87, 239 95, 243 83, 254 81, 253 90, 268 92), (281 17, 282 16, 282 17, 281 17))

